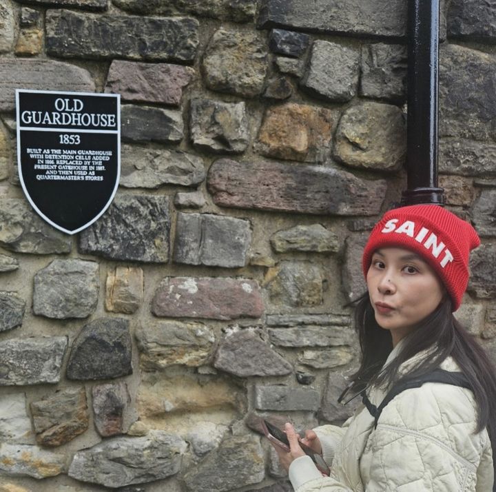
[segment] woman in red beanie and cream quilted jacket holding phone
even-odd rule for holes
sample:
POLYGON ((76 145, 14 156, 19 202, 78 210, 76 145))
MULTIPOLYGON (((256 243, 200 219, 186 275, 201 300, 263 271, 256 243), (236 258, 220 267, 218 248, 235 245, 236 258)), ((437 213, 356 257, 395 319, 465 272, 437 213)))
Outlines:
POLYGON ((496 373, 452 314, 479 243, 470 224, 438 205, 393 209, 375 225, 362 258, 368 295, 355 311, 362 362, 349 391, 365 389, 366 404, 343 427, 302 440, 332 462, 329 477, 286 424, 291 451, 276 451, 296 492, 493 490, 496 373), (425 382, 397 394, 375 422, 371 408, 388 389, 436 368, 463 373, 471 389, 425 382))

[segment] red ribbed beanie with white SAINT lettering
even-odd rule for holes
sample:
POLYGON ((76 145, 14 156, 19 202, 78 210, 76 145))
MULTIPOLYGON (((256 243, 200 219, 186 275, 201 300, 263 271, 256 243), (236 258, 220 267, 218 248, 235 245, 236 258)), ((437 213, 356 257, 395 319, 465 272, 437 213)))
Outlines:
POLYGON ((459 308, 468 284, 468 255, 480 244, 475 229, 440 205, 411 205, 386 212, 372 229, 362 258, 364 275, 381 247, 402 247, 422 256, 459 308))

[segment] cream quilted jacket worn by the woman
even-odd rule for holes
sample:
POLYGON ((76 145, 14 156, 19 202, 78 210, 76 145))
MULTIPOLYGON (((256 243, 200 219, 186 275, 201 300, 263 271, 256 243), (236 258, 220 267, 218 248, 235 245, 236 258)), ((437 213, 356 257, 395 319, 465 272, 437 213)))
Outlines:
MULTIPOLYGON (((400 371, 408 371, 420 356, 405 362, 400 371)), ((459 370, 451 358, 441 367, 459 370)), ((379 405, 386 391, 373 387, 367 393, 379 405)), ((314 429, 324 459, 332 462, 331 476, 323 477, 307 456, 297 458, 289 468, 293 488, 296 492, 490 492, 493 453, 487 431, 474 433, 475 408, 468 389, 424 383, 389 402, 373 429, 374 419, 362 404, 342 427, 314 429)))

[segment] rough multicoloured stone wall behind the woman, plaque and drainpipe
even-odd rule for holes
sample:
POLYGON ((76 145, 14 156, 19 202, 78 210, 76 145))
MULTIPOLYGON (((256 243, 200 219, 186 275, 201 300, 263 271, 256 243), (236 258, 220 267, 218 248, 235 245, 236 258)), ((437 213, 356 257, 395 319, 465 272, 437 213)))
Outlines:
MULTIPOLYGON (((496 356, 496 8, 442 5, 440 185, 496 356)), ((405 187, 404 0, 0 0, 0 491, 289 491, 257 416, 342 421, 361 247, 405 187), (17 175, 14 88, 115 92, 76 236, 17 175)), ((56 197, 54 197, 56 199, 56 197)))

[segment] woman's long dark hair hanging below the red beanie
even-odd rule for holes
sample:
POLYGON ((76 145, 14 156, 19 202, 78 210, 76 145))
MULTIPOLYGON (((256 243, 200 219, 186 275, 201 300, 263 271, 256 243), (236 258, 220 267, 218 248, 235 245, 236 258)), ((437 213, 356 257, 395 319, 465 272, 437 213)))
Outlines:
MULTIPOLYGON (((495 447, 496 425, 491 422, 490 416, 496 415, 496 369, 474 336, 453 316, 450 298, 443 300, 407 336, 397 357, 384 370, 381 369, 393 349, 393 342, 389 330, 380 327, 375 321, 369 294, 364 294, 355 305, 355 328, 360 339, 362 362, 352 376, 353 390, 363 389, 367 385, 389 386, 402 379, 398 376, 400 365, 420 351, 428 349, 429 356, 412 367, 408 378, 428 373, 451 356, 473 389, 477 402, 476 432, 487 428, 495 447)), ((493 452, 496 455, 496 449, 493 452)), ((496 469, 496 460, 493 460, 493 464, 496 469)))

